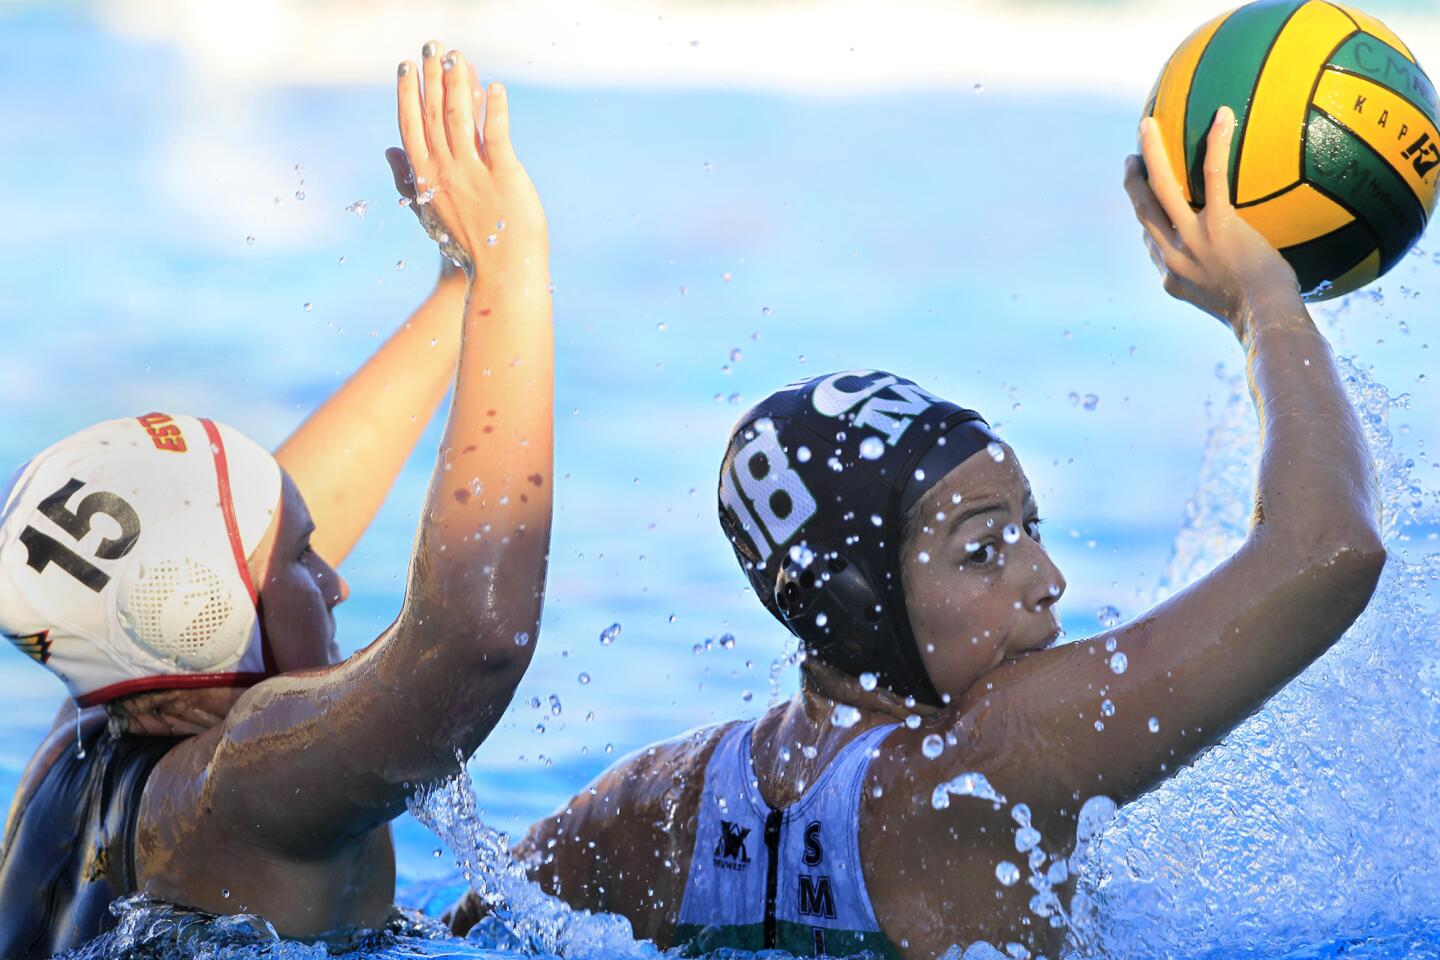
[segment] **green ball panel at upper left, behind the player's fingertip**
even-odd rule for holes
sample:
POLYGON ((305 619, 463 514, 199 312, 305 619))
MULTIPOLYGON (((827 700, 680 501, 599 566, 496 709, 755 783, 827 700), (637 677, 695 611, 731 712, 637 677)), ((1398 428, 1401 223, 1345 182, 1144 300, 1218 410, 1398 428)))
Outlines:
POLYGON ((1234 173, 1240 170, 1246 117, 1260 79, 1260 69, 1280 30, 1306 3, 1309 0, 1260 0, 1240 7, 1220 24, 1204 56, 1200 58, 1195 79, 1189 86, 1189 101, 1185 105, 1185 158, 1189 167, 1189 191, 1197 206, 1205 201, 1204 142, 1215 119, 1215 111, 1221 107, 1236 111, 1236 138, 1230 147, 1230 171, 1234 183, 1234 173))

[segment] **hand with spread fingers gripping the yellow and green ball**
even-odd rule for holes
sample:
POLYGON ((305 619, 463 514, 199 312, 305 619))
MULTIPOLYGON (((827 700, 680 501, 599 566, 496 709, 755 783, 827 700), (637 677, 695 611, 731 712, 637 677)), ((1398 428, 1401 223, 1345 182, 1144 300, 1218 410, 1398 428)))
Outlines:
POLYGON ((1257 302, 1277 296, 1297 302, 1300 291, 1295 269, 1230 201, 1234 132, 1236 115, 1223 107, 1205 141, 1205 206, 1194 210, 1175 180, 1159 124, 1145 118, 1142 157, 1126 160, 1125 189, 1166 292, 1230 324, 1244 340, 1257 302))

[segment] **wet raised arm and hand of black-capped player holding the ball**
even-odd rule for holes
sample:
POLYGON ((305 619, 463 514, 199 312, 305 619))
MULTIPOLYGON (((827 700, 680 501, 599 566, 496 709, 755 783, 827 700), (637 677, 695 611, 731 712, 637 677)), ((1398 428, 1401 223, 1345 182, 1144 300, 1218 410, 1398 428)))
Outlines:
POLYGON ((1153 121, 1142 127, 1149 184, 1132 157, 1126 187, 1166 291, 1225 321, 1246 350, 1263 436, 1253 525, 1189 589, 1119 629, 1001 665, 985 678, 994 689, 959 705, 956 733, 1032 807, 1073 816, 1076 797, 1125 802, 1174 773, 1329 649, 1384 567, 1369 452, 1329 345, 1293 271, 1227 200, 1233 131, 1224 109, 1204 210, 1185 201, 1153 121))

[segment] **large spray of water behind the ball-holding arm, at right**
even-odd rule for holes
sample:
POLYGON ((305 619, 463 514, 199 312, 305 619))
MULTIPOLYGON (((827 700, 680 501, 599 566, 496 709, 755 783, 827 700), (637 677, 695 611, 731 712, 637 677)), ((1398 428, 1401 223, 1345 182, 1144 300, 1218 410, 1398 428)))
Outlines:
MULTIPOLYGON (((1390 427, 1408 397, 1349 360, 1339 368, 1377 462, 1390 550, 1380 587, 1332 651, 1097 836, 1077 894, 1094 905, 1079 956, 1188 957, 1195 944, 1282 956, 1318 943, 1344 948, 1303 956, 1351 956, 1380 944, 1375 931, 1440 913, 1440 688, 1426 679, 1440 675, 1440 510, 1390 427)), ((1244 380, 1227 383, 1158 599, 1228 557, 1250 521, 1259 432, 1244 380)))

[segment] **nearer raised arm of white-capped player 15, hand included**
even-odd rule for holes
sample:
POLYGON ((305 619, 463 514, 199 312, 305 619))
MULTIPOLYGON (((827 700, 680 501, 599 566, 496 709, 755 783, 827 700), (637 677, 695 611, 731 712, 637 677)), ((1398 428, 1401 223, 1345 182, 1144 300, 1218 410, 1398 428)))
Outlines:
POLYGON ((223 730, 181 747, 204 759, 192 792, 204 822, 292 859, 336 855, 456 770, 534 651, 553 491, 549 239, 510 145, 505 91, 472 92, 464 59, 445 60, 426 45, 423 95, 413 63, 399 76, 405 150, 433 190, 423 219, 469 275, 405 607, 344 664, 255 687, 223 730))

